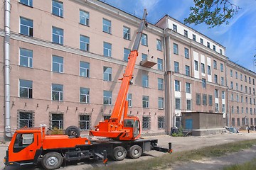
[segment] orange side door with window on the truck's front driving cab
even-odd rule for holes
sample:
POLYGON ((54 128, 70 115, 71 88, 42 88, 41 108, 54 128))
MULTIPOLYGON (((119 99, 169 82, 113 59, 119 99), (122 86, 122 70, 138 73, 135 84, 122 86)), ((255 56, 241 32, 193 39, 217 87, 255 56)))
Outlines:
POLYGON ((38 145, 38 134, 17 133, 15 135, 14 145, 9 148, 9 162, 33 161, 36 150, 40 148, 38 145))

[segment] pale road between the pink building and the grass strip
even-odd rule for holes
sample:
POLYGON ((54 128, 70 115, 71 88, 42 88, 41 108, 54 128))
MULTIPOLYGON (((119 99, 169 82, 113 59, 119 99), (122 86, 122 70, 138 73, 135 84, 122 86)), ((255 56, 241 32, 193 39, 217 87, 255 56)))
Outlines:
MULTIPOLYGON (((208 135, 203 137, 171 137, 168 135, 162 135, 162 136, 155 136, 155 137, 144 137, 144 138, 150 138, 150 139, 157 139, 159 140, 159 147, 168 147, 168 143, 172 143, 172 148, 174 152, 181 152, 184 150, 192 150, 192 149, 198 149, 201 147, 207 147, 207 146, 213 146, 213 145, 220 145, 223 143, 228 142, 235 142, 240 140, 250 140, 250 139, 256 139, 256 132, 250 132, 249 134, 245 131, 240 132, 239 134, 219 134, 219 135, 208 135)), ((0 145, 0 169, 4 169, 4 155, 5 151, 7 149, 8 144, 6 145, 0 145)), ((122 162, 134 162, 138 160, 144 160, 149 159, 152 157, 159 157, 164 153, 156 152, 156 151, 150 151, 146 152, 142 155, 139 159, 124 159, 122 162)), ((110 160, 108 164, 122 164, 122 162, 114 162, 110 160)), ((73 162, 72 164, 67 164, 67 166, 62 166, 60 169, 65 170, 74 170, 74 169, 89 169, 95 166, 104 166, 102 162, 97 162, 93 160, 85 160, 84 162, 73 162)), ((43 169, 41 166, 34 167, 34 166, 28 166, 24 167, 23 169, 26 170, 39 170, 43 169)), ((13 169, 12 169, 13 170, 13 169)))

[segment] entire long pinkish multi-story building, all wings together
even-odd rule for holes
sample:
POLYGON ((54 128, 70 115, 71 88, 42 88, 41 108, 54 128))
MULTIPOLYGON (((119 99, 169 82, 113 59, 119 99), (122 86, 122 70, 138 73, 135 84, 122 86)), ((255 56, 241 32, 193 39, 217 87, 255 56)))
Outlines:
MULTIPOLYGON (((10 13, 10 66, 0 58, 2 68, 11 68, 10 84, 4 69, 0 74, 0 108, 5 113, 9 86, 10 117, 1 115, 0 131, 10 120, 11 130, 76 125, 87 133, 109 118, 140 18, 97 0, 14 0, 10 13)), ((4 28, 3 19, 1 47, 4 28)), ((139 116, 144 135, 169 134, 183 112, 223 113, 225 125, 256 124, 256 74, 170 16, 144 30, 133 80, 128 115, 139 116)))

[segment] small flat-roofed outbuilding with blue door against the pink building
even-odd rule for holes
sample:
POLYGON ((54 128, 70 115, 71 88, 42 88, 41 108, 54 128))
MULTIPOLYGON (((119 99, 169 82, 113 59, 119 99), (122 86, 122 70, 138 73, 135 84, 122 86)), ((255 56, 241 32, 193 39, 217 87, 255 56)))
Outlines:
POLYGON ((204 136, 222 133, 225 128, 223 113, 183 112, 182 128, 193 136, 204 136))

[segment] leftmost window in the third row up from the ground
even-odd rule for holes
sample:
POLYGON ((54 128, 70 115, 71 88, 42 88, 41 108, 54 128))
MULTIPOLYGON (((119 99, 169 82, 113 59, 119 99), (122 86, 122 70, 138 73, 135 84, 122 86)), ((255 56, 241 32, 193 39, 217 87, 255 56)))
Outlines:
POLYGON ((20 66, 33 67, 33 51, 20 48, 20 66))

